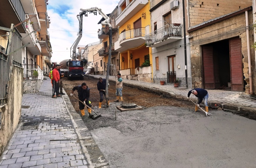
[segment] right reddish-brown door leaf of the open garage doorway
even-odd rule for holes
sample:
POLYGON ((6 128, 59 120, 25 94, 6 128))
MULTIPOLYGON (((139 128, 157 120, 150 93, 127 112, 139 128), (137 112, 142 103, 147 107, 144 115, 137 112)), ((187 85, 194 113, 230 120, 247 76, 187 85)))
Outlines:
POLYGON ((233 38, 229 40, 230 50, 230 77, 231 90, 243 91, 244 81, 242 72, 242 53, 241 53, 241 39, 233 38))

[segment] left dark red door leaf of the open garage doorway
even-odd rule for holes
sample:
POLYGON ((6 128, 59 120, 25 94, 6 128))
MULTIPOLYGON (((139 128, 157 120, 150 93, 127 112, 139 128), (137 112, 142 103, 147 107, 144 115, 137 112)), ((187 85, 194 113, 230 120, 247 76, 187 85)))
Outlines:
POLYGON ((202 46, 204 88, 215 89, 213 46, 202 46))

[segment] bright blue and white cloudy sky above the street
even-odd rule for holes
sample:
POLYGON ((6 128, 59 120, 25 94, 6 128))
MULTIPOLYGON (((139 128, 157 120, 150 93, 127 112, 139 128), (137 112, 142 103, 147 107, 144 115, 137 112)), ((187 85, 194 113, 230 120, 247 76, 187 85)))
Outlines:
MULTIPOLYGON (((50 17, 50 28, 48 29, 52 45, 52 62, 59 63, 70 58, 70 47, 78 37, 79 21, 76 17, 80 8, 88 9, 97 7, 105 14, 110 14, 118 5, 120 0, 48 0, 47 11, 50 17)), ((83 16, 83 33, 78 45, 87 45, 99 42, 98 24, 102 16, 88 13, 83 16)), ((78 50, 77 50, 78 52, 78 50)))

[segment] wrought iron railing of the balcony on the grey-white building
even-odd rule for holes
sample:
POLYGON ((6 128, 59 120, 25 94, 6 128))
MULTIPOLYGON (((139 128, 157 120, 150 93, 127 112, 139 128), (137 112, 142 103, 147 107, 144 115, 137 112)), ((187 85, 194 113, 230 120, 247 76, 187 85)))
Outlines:
POLYGON ((182 25, 180 24, 166 24, 164 27, 145 36, 146 45, 149 46, 169 37, 182 37, 181 27, 182 25))

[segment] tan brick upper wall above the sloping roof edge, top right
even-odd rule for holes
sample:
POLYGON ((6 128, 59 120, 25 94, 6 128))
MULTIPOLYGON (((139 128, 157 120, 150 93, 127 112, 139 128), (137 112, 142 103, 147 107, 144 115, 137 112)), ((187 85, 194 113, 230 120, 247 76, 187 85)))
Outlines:
POLYGON ((252 0, 190 0, 188 6, 190 18, 189 27, 191 27, 207 20, 252 6, 252 0))

